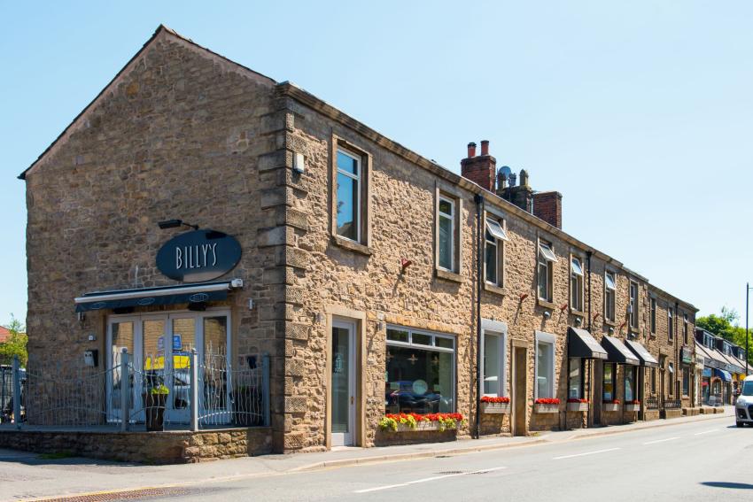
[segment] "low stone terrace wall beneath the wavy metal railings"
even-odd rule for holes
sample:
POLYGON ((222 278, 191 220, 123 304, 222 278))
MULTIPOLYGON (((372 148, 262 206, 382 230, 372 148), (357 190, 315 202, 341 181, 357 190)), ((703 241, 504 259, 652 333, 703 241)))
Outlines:
POLYGON ((0 447, 145 464, 182 464, 272 452, 272 430, 199 432, 0 431, 0 447))

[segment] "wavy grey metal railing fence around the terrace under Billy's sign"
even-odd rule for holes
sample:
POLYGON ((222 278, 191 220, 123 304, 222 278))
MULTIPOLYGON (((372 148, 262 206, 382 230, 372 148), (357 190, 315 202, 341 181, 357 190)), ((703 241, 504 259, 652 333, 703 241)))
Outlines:
MULTIPOLYGON (((269 424, 269 356, 235 369, 224 354, 174 358, 123 351, 113 367, 10 369, 8 421, 25 426, 120 430, 215 429, 269 424), (167 362, 167 364, 166 364, 167 362), (19 398, 16 398, 18 396, 19 398)), ((0 375, 2 378, 4 374, 0 375)), ((0 380, 0 383, 3 381, 0 380)), ((2 390, 0 390, 2 392, 2 390)), ((4 413, 6 415, 6 413, 4 413)))

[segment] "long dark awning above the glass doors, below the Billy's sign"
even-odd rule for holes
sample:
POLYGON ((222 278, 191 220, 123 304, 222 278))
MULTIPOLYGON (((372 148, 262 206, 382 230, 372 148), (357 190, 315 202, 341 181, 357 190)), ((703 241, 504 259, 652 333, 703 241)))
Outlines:
POLYGON ((139 290, 95 291, 75 299, 76 312, 147 305, 199 304, 224 300, 231 282, 207 282, 139 290))

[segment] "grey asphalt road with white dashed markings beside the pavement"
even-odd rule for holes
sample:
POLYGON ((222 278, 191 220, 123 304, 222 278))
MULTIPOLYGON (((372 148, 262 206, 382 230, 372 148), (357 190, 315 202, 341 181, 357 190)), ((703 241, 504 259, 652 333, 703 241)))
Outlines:
POLYGON ((753 500, 753 428, 729 421, 187 486, 150 500, 753 500))

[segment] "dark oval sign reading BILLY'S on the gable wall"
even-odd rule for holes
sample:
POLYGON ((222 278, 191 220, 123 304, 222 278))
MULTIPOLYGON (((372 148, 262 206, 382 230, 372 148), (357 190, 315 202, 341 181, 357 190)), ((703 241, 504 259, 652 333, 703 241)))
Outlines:
POLYGON ((212 281, 235 268, 241 245, 216 230, 193 230, 175 236, 157 251, 157 268, 181 282, 212 281))

